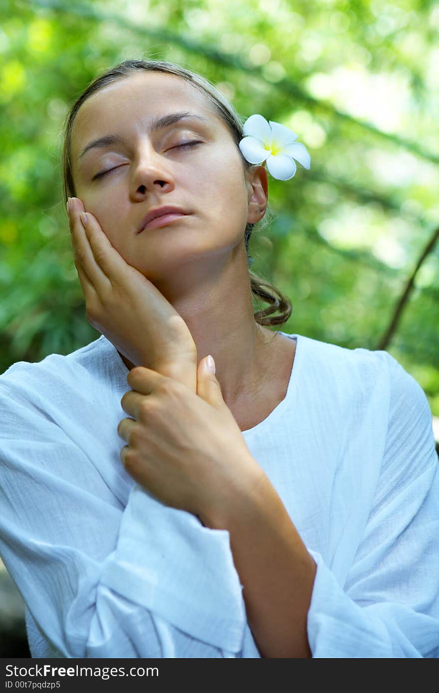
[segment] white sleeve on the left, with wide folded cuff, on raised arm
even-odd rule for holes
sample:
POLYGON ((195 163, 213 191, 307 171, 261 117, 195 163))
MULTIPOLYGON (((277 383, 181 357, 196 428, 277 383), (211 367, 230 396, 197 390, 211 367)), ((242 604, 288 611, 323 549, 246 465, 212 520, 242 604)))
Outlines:
POLYGON ((1 385, 0 554, 59 656, 236 656, 246 615, 229 533, 137 484, 123 508, 93 451, 1 385))

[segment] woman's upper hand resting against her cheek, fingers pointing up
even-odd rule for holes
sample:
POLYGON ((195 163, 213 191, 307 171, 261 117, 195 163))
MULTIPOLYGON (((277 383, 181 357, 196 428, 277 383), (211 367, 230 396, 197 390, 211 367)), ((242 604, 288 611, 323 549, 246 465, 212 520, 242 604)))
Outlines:
POLYGON ((69 225, 89 323, 136 366, 179 380, 196 392, 196 346, 181 315, 128 265, 96 218, 71 198, 69 225))

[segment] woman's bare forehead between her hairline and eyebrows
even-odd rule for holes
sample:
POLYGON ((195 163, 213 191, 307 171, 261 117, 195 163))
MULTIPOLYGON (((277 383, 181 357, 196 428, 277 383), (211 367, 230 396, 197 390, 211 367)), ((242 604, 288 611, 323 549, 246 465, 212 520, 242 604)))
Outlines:
POLYGON ((203 115, 213 128, 225 127, 212 102, 187 80, 153 71, 125 77, 96 91, 80 107, 71 134, 72 155, 93 137, 127 126, 140 134, 155 116, 178 111, 203 115))

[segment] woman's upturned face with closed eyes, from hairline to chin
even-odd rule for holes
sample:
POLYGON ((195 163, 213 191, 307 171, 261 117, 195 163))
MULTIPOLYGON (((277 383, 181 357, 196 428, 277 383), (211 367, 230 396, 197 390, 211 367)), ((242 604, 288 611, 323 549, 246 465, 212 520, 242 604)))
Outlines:
POLYGON ((248 204, 252 186, 227 125, 207 97, 174 75, 135 73, 92 94, 76 116, 71 164, 85 209, 123 258, 150 278, 232 249, 246 222, 262 216, 261 204, 248 204), (151 128, 163 116, 186 112, 192 115, 151 128), (113 143, 83 152, 109 136, 113 143), (139 234, 148 211, 163 205, 188 214, 139 234))

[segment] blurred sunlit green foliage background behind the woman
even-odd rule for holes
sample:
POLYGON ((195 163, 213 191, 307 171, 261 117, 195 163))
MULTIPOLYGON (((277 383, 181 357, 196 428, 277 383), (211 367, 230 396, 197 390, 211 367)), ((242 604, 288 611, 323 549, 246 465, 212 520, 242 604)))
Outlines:
MULTIPOLYGON (((311 170, 269 176, 252 269, 288 295, 287 332, 381 348, 439 226, 439 6, 426 0, 3 0, 0 5, 0 371, 69 353, 87 322, 62 203, 62 120, 128 58, 199 71, 244 117, 299 134, 311 170), (436 67, 435 67, 436 66, 436 67)), ((433 243, 386 348, 439 416, 433 243)))

